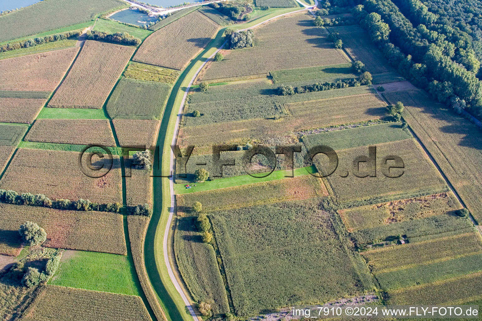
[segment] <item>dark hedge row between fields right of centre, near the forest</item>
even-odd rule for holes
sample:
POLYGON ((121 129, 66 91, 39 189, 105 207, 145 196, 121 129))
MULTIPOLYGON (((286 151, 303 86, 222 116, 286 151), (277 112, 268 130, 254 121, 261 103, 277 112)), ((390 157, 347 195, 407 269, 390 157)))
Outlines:
POLYGON ((314 83, 312 85, 298 86, 298 87, 293 87, 291 85, 287 85, 287 86, 283 85, 278 87, 278 95, 287 96, 287 95, 294 95, 294 94, 312 92, 312 91, 357 87, 360 85, 370 85, 371 83, 372 83, 372 75, 368 71, 365 71, 360 77, 358 77, 358 79, 357 78, 343 79, 343 80, 337 80, 335 82, 325 82, 323 84, 314 83))

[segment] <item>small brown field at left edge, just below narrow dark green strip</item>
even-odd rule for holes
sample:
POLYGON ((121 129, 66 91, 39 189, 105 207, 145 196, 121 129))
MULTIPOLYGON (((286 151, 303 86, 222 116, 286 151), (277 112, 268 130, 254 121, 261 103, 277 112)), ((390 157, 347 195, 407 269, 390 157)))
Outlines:
POLYGON ((0 122, 30 124, 46 102, 45 99, 0 98, 0 122))

